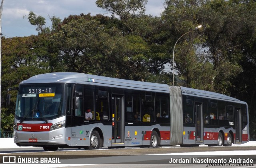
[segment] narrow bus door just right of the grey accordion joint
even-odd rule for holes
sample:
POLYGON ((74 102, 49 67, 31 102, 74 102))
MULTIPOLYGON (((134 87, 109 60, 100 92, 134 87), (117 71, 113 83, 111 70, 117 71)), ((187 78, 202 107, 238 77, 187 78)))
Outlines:
POLYGON ((203 109, 202 103, 195 102, 196 111, 196 142, 203 141, 203 109))

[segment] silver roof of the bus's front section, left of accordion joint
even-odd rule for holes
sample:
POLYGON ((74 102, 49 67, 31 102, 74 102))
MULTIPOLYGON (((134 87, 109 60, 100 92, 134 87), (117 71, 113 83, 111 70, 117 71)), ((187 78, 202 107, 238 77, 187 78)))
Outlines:
POLYGON ((145 90, 155 92, 169 92, 167 84, 157 84, 150 82, 140 82, 134 80, 125 80, 118 78, 110 78, 105 76, 97 76, 91 74, 83 74, 76 72, 55 72, 47 74, 38 74, 32 76, 20 84, 38 84, 38 83, 76 83, 76 84, 91 84, 95 86, 106 86, 115 88, 127 88, 134 90, 145 90))

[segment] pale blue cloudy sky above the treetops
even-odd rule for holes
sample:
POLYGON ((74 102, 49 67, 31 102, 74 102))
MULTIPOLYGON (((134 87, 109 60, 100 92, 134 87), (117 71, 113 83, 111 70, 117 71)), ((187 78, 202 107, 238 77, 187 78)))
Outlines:
MULTIPOLYGON (((1 18, 2 34, 6 38, 37 35, 36 26, 31 25, 27 18, 30 11, 44 17, 47 27, 51 26, 49 17, 52 16, 61 20, 70 15, 89 12, 91 16, 96 14, 110 16, 105 10, 98 8, 95 2, 96 0, 4 0, 1 18)), ((164 0, 148 0, 146 14, 160 16, 163 10, 164 0)))

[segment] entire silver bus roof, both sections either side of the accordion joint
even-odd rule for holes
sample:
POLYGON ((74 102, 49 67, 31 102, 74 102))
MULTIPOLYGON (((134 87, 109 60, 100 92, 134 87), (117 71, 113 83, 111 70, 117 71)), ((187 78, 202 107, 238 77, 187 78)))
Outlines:
MULTIPOLYGON (((20 84, 40 84, 40 83, 74 83, 74 84, 90 84, 94 86, 105 86, 115 88, 125 88, 134 90, 144 90, 151 92, 164 92, 169 93, 170 88, 167 84, 158 84, 151 82, 140 82, 134 80, 125 80, 118 78, 110 78, 105 76, 97 76, 91 74, 83 74, 77 72, 54 72, 47 74, 38 74, 20 82, 20 84)), ((172 87, 172 86, 170 86, 172 87)), ((228 100, 233 102, 241 102, 236 98, 226 96, 224 94, 218 94, 215 92, 209 92, 205 90, 198 90, 192 88, 186 88, 180 86, 182 95, 198 96, 203 98, 212 98, 218 100, 228 100)))

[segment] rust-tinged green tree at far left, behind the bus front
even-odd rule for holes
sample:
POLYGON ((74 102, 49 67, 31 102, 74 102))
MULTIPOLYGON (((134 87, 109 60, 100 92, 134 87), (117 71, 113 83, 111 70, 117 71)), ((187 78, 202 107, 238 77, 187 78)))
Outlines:
MULTIPOLYGON (((18 86, 31 76, 59 71, 58 66, 48 36, 2 38, 2 96, 6 98, 8 88, 18 86)), ((14 117, 17 93, 13 91, 11 94, 11 104, 4 110, 2 108, 2 116, 5 116, 2 126, 5 131, 11 131, 14 117)), ((6 102, 3 104, 5 106, 6 102)))

